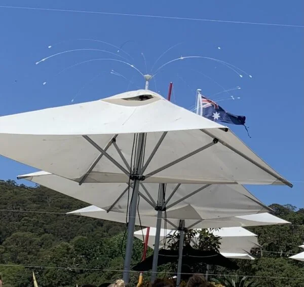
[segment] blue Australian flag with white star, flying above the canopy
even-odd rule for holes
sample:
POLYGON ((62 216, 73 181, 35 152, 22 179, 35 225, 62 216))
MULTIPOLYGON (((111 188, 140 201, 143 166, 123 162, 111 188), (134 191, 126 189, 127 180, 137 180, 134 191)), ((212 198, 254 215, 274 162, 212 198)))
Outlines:
POLYGON ((213 100, 210 100, 201 94, 199 94, 199 96, 201 97, 201 105, 203 107, 203 117, 215 122, 219 121, 227 124, 245 126, 245 116, 236 116, 231 113, 227 113, 213 100))

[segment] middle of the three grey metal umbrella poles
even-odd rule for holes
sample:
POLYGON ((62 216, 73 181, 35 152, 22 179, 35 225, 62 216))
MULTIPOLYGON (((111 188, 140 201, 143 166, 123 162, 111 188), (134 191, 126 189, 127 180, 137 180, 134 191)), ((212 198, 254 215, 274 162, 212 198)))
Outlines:
POLYGON ((157 277, 157 263, 158 263, 159 249, 160 249, 164 194, 165 194, 165 184, 160 184, 158 202, 157 202, 157 206, 155 207, 155 210, 157 210, 157 222, 156 222, 156 234, 155 234, 155 242, 154 242, 151 282, 154 282, 154 280, 157 277))

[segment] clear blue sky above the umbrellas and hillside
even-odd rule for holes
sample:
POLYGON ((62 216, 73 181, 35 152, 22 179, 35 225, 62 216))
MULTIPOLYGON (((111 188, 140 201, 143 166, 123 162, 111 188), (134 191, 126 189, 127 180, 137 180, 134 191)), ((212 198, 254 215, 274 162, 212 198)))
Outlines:
MULTIPOLYGON (((86 10, 131 14, 148 14, 186 18, 219 19, 247 22, 267 22, 303 25, 302 0, 283 1, 0 1, 1 6, 86 10)), ((166 95, 173 81, 172 100, 191 109, 195 90, 213 99, 234 114, 245 115, 252 138, 243 127, 232 126, 260 157, 293 182, 287 187, 249 187, 263 202, 291 203, 304 206, 303 193, 303 28, 249 25, 207 21, 155 19, 131 16, 87 13, 37 11, 0 8, 0 114, 8 115, 103 98, 126 89, 143 87, 135 70, 118 62, 95 61, 59 71, 77 62, 111 56, 98 51, 72 52, 35 62, 70 49, 117 49, 96 42, 69 39, 97 39, 123 46, 133 58, 132 64, 145 72, 144 53, 148 69, 170 46, 175 47, 158 66, 182 56, 201 55, 230 62, 253 76, 240 78, 218 62, 191 59, 177 61, 156 77, 151 89, 166 95), (132 40, 132 41, 131 41, 132 40), (48 49, 49 45, 53 45, 48 49), (218 49, 220 47, 221 49, 218 49), (111 75, 113 69, 123 77, 111 75), (198 73, 199 72, 199 73, 198 73), (100 77, 90 80, 101 73, 100 77), (241 87, 212 97, 221 88, 241 87), (134 84, 129 84, 130 80, 134 84), (46 85, 43 85, 47 82, 46 85)), ((120 52, 121 56, 128 57, 120 52)), ((117 58, 116 56, 111 56, 117 58)), ((119 58, 118 58, 119 59, 119 58)), ((207 164, 207 163, 206 163, 207 164)), ((0 178, 15 179, 17 174, 31 171, 29 167, 0 158, 0 178)))

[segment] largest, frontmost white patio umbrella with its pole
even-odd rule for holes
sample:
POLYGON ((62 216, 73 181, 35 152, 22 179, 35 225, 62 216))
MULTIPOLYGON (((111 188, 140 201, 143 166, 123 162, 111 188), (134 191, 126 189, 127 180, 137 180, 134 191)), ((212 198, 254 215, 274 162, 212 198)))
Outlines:
MULTIPOLYGON (((127 282, 143 181, 292 186, 229 129, 149 90, 1 117, 0 154, 80 185, 101 183, 102 192, 111 183, 111 191, 124 194, 131 182, 127 282)), ((109 194, 103 199, 103 206, 113 204, 109 194)), ((161 213, 159 199, 154 200, 161 213)))

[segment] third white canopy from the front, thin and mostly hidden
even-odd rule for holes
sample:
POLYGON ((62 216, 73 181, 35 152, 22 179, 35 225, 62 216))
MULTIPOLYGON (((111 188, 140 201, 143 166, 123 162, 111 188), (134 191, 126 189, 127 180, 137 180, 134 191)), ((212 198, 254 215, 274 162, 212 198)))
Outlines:
MULTIPOLYGON (((123 212, 106 212, 105 209, 91 205, 78 210, 68 212, 69 214, 75 214, 79 216, 85 216, 90 218, 97 218, 101 220, 110 220, 125 223, 126 214, 123 212)), ((165 216, 163 214, 163 219, 165 216)), ((157 218, 156 216, 149 216, 140 214, 140 220, 137 217, 135 219, 135 224, 140 226, 156 226, 157 218)), ((166 217, 166 227, 167 229, 177 229, 179 220, 174 218, 166 217)), ((241 226, 259 226, 259 225, 279 225, 279 224, 289 224, 288 221, 280 219, 273 216, 270 213, 258 213, 250 214, 246 216, 237 216, 232 218, 220 218, 220 219, 210 219, 210 220, 185 220, 185 228, 222 228, 222 227, 241 227, 241 226), (193 226, 193 227, 192 227, 193 226)), ((162 235, 164 236, 164 234, 162 235)))

